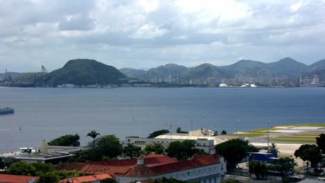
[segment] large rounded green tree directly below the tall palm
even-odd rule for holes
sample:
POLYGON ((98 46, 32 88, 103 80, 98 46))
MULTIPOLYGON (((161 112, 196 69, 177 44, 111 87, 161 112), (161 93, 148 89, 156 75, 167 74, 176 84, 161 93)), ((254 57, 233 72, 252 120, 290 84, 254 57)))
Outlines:
POLYGON ((122 154, 122 145, 115 135, 105 135, 95 141, 94 160, 101 160, 103 157, 115 158, 122 154))

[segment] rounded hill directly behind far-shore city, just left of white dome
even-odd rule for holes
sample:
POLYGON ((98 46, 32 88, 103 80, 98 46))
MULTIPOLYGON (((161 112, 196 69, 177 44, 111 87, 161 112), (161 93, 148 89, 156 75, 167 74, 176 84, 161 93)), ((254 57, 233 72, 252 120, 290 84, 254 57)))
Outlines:
POLYGON ((233 75, 221 67, 216 67, 212 64, 201 64, 197 67, 192 67, 188 72, 183 73, 182 78, 233 78, 233 75))

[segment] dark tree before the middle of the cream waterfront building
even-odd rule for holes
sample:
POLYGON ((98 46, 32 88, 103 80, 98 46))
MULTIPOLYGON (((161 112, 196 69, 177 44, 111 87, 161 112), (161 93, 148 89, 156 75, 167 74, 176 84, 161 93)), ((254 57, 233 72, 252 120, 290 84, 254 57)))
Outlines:
POLYGON ((195 141, 193 140, 172 141, 167 148, 167 155, 181 161, 188 160, 195 153, 199 153, 199 149, 194 146, 195 141))

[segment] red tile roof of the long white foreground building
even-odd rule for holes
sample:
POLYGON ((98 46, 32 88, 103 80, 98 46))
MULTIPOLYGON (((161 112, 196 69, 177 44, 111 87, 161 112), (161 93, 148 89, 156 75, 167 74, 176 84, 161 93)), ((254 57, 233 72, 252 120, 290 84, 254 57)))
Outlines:
MULTIPOLYGON (((148 175, 160 175, 164 173, 181 171, 200 166, 208 166, 210 164, 218 164, 219 155, 195 155, 192 159, 184 162, 178 162, 171 157, 165 155, 148 155, 144 157, 145 166, 149 167, 148 175), (147 159, 147 161, 146 161, 147 159)), ((139 176, 134 171, 136 159, 115 160, 109 162, 91 162, 79 164, 62 164, 56 166, 59 170, 77 170, 87 175, 108 173, 116 176, 139 176), (122 161, 122 162, 118 162, 122 161), (135 162, 133 164, 133 162, 135 162), (117 165, 121 166, 117 166, 117 165), (122 166, 124 165, 124 166, 122 166)))

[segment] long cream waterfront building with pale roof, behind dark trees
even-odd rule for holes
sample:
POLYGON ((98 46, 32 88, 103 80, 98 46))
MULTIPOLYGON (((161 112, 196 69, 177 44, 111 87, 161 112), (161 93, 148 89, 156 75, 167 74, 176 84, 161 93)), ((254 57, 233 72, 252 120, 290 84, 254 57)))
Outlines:
POLYGON ((169 133, 159 135, 154 139, 144 138, 144 137, 125 137, 124 146, 127 143, 133 143, 133 145, 138 146, 141 150, 147 145, 153 145, 155 143, 161 143, 162 146, 167 149, 169 143, 172 141, 185 141, 194 140, 195 148, 198 148, 201 152, 209 153, 215 148, 215 145, 228 141, 230 139, 244 139, 243 136, 238 135, 216 135, 217 132, 214 130, 206 130, 205 128, 200 128, 199 130, 190 131, 188 134, 184 133, 169 133))

